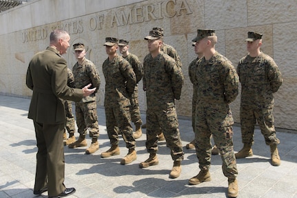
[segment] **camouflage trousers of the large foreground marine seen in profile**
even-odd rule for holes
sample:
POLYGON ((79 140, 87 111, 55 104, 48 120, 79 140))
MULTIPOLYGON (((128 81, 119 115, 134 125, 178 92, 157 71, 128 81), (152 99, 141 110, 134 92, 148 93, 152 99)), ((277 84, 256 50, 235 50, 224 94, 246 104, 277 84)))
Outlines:
POLYGON ((212 157, 211 137, 214 138, 223 161, 222 169, 225 177, 235 178, 238 175, 236 158, 233 150, 232 126, 221 126, 221 122, 213 117, 207 119, 199 116, 195 119, 195 148, 201 170, 209 170, 212 157))

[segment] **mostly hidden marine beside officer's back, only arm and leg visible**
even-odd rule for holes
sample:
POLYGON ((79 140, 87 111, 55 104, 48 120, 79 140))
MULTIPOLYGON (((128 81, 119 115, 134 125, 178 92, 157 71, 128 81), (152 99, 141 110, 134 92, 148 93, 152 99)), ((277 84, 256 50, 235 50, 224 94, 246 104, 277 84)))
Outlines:
MULTIPOLYGON (((67 71, 68 71, 67 85, 70 88, 74 88, 74 77, 73 77, 72 71, 70 70, 70 68, 67 68, 67 71)), ((65 115, 66 115, 65 130, 67 130, 69 133, 69 138, 67 139, 66 132, 64 132, 64 145, 69 145, 70 143, 73 143, 76 140, 74 136, 75 119, 74 119, 74 115, 72 114, 72 101, 65 100, 64 106, 65 106, 65 115)))

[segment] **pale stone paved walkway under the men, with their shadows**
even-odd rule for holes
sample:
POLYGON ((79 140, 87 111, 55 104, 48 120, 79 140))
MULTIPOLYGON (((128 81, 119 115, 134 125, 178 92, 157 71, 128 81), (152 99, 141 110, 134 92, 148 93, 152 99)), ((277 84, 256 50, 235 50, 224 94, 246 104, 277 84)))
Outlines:
MULTIPOLYGON (((30 99, 0 95, 0 197, 48 197, 33 195, 36 163, 36 140, 32 120, 28 119, 30 99)), ((188 180, 198 174, 198 159, 194 150, 185 151, 181 177, 168 177, 172 168, 170 150, 159 143, 158 166, 141 169, 139 163, 149 156, 144 135, 137 139, 137 160, 123 166, 127 154, 123 139, 121 155, 102 159, 101 152, 110 148, 105 128, 103 108, 98 108, 100 149, 94 155, 84 155, 85 148, 65 147, 65 185, 76 188, 70 198, 91 197, 226 197, 227 178, 221 170, 221 157, 212 157, 212 181, 196 186, 188 180)), ((142 115, 145 120, 145 115, 142 115)), ((194 137, 191 121, 179 119, 183 145, 194 137)), ((78 134, 75 134, 76 137, 78 134)), ((281 141, 281 166, 269 163, 269 147, 265 146, 259 130, 255 132, 254 156, 238 159, 238 197, 297 197, 297 134, 278 132, 281 141)), ((90 143, 90 138, 88 143, 90 143)), ((234 126, 234 150, 242 147, 240 128, 234 126)))

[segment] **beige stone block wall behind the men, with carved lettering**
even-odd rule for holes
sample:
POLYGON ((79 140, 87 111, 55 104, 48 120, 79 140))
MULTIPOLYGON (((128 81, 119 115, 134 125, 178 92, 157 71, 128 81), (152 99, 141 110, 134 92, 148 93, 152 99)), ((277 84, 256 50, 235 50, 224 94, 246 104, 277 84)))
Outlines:
MULTIPOLYGON (((25 86, 25 72, 32 56, 48 46, 54 28, 70 32, 70 44, 77 41, 88 46, 88 59, 97 66, 102 85, 98 93, 103 106, 105 81, 102 63, 107 58, 105 37, 130 40, 130 51, 141 61, 147 54, 143 39, 153 27, 165 30, 165 43, 176 48, 183 63, 185 85, 178 115, 190 117, 192 84, 187 67, 196 57, 192 39, 198 28, 216 30, 216 49, 234 66, 247 54, 244 39, 248 31, 263 33, 263 52, 274 58, 283 73, 284 83, 275 94, 275 122, 278 128, 297 130, 297 1, 237 0, 39 0, 0 13, 0 93, 30 97, 25 86), (42 9, 41 9, 42 8, 42 9)), ((75 63, 73 50, 65 55, 69 68, 75 63)), ((139 84, 141 110, 145 110, 145 93, 139 84)), ((240 96, 232 103, 239 122, 240 96)))

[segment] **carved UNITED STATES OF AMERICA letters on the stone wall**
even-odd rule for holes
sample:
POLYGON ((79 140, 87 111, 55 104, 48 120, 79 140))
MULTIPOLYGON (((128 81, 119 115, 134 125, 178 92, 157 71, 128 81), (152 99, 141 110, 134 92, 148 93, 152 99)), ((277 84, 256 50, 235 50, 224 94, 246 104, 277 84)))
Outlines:
POLYGON ((137 6, 136 4, 130 9, 118 8, 116 10, 112 10, 111 14, 108 15, 98 13, 95 17, 89 17, 86 23, 84 23, 82 19, 79 19, 69 22, 62 21, 57 25, 50 26, 49 28, 45 26, 24 30, 21 32, 21 39, 23 43, 46 39, 49 35, 48 32, 57 28, 66 30, 71 35, 82 33, 84 28, 88 28, 90 31, 95 31, 101 30, 104 25, 113 28, 114 26, 127 26, 134 23, 163 19, 164 17, 179 17, 182 14, 192 14, 192 10, 190 10, 187 0, 178 2, 176 2, 176 0, 167 0, 145 6, 137 6), (107 21, 109 24, 105 24, 107 21))

